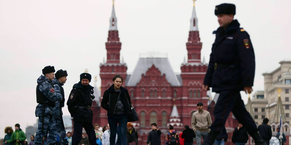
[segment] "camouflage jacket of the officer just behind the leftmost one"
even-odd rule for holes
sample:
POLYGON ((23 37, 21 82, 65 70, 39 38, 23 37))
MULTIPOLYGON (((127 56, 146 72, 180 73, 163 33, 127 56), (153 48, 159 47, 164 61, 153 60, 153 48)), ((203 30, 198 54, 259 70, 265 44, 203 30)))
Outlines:
POLYGON ((63 89, 64 84, 61 83, 60 81, 58 81, 56 78, 53 79, 52 84, 54 85, 54 89, 55 89, 56 93, 60 93, 63 97, 62 101, 57 101, 55 103, 56 106, 53 108, 54 113, 55 113, 55 117, 60 118, 60 116, 63 115, 63 114, 60 115, 60 112, 61 112, 62 107, 64 107, 64 103, 65 103, 65 95, 64 95, 64 89, 63 89))

